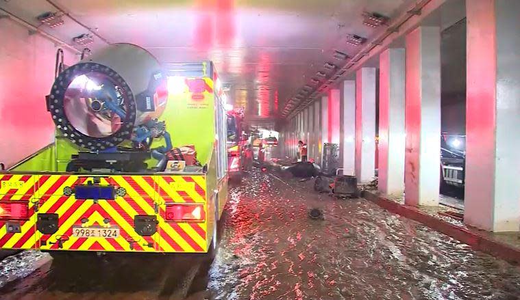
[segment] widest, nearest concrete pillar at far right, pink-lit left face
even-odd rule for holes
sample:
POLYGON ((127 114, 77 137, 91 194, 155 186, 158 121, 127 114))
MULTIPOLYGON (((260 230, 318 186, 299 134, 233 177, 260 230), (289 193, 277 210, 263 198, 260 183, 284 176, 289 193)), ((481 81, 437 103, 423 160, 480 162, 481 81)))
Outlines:
POLYGON ((467 8, 465 222, 520 231, 520 6, 467 8))

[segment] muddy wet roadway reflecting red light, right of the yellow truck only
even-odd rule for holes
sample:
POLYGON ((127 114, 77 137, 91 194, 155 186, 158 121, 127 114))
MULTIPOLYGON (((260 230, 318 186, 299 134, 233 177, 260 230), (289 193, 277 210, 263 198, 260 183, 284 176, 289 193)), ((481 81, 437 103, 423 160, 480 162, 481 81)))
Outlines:
POLYGON ((310 185, 256 173, 230 190, 214 299, 519 299, 518 267, 310 185))

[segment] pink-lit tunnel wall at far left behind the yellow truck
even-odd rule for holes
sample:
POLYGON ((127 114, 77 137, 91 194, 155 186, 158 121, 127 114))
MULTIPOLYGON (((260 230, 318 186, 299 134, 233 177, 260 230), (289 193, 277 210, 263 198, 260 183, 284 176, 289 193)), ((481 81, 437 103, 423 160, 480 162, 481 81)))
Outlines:
MULTIPOLYGON (((58 47, 9 18, 0 19, 0 36, 0 162, 10 167, 53 141, 45 95, 54 80, 58 47)), ((64 53, 67 65, 77 58, 64 53)))

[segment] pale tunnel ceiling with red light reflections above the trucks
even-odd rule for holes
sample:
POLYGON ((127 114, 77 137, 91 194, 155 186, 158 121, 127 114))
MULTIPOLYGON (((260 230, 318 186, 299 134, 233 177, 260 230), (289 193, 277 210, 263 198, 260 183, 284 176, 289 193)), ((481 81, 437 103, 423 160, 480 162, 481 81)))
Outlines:
POLYGON ((134 43, 165 68, 211 59, 230 85, 230 102, 245 107, 249 120, 261 122, 280 117, 286 101, 312 85, 312 78, 323 81, 317 73, 332 72, 326 63, 343 66, 335 51, 349 57, 358 53, 362 47, 348 44, 347 36, 370 39, 384 30, 364 25, 364 14, 393 18, 414 2, 16 0, 1 1, 0 8, 35 26, 40 25, 37 16, 63 10, 84 26, 63 16, 63 25, 40 29, 77 49, 84 46, 74 44, 73 37, 90 28, 92 51, 106 42, 134 43))

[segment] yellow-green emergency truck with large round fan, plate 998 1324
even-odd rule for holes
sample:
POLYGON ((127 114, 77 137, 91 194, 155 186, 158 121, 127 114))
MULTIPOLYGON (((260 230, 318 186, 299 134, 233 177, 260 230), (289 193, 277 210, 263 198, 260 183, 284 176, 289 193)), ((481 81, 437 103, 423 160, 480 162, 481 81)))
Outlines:
POLYGON ((210 251, 227 197, 212 62, 162 70, 114 44, 58 71, 47 96, 55 141, 0 172, 0 248, 210 251), (182 146, 196 159, 166 155, 182 146))

